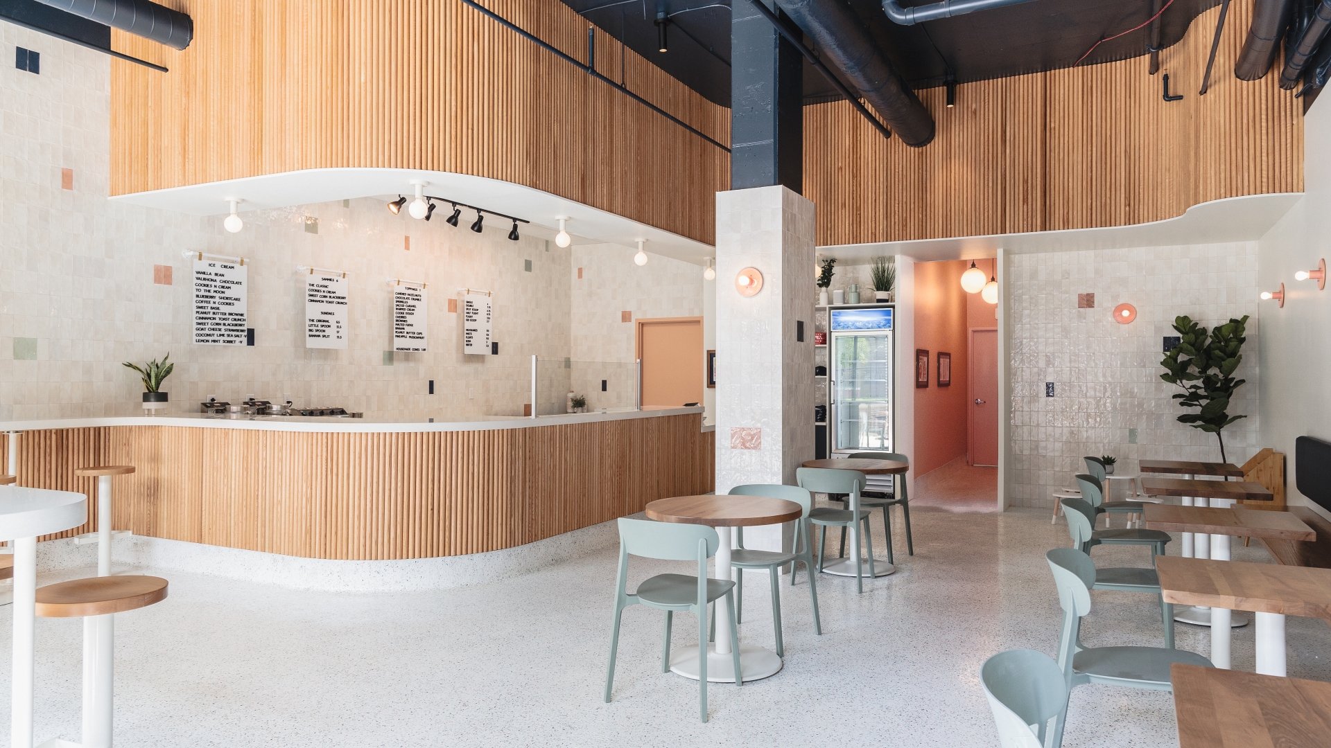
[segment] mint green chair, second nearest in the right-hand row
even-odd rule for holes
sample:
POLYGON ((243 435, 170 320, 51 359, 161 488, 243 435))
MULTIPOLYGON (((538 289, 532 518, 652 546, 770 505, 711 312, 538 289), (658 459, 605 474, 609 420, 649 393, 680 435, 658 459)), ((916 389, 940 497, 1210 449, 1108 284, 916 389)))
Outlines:
MULTIPOLYGON (((1065 504, 1066 506, 1066 504, 1065 504)), ((1213 667, 1211 661, 1185 650, 1159 647, 1086 647, 1081 643, 1081 619, 1090 612, 1090 590, 1095 584, 1095 564, 1077 548, 1054 548, 1045 554, 1054 583, 1058 586, 1058 604, 1063 608, 1062 632, 1058 640, 1058 667, 1063 671, 1067 689, 1083 683, 1105 683, 1173 691, 1169 668, 1174 663, 1213 667)), ((1058 716, 1054 744, 1063 737, 1067 709, 1058 716)))

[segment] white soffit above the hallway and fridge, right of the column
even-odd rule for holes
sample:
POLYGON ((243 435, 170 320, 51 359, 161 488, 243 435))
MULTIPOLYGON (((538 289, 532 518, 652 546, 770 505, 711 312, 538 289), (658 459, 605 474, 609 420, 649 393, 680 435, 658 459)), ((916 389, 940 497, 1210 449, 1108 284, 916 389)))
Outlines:
POLYGON ((844 244, 820 246, 817 252, 819 254, 833 256, 841 262, 868 262, 870 257, 880 254, 904 254, 914 258, 917 262, 932 262, 937 260, 997 257, 998 248, 1010 254, 1034 254, 1078 249, 1130 249, 1135 246, 1182 246, 1256 241, 1276 221, 1284 217, 1290 212, 1290 208, 1294 208, 1294 204, 1302 197, 1302 192, 1227 197, 1225 200, 1194 205, 1175 218, 1131 226, 994 234, 988 237, 844 244))

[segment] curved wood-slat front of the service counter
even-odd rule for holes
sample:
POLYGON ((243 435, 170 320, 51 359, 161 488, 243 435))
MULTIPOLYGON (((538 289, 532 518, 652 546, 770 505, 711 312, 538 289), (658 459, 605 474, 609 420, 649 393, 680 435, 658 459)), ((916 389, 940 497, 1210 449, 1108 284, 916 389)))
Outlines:
POLYGON ((113 483, 116 530, 318 559, 411 559, 511 548, 712 490, 701 415, 495 431, 307 434, 176 426, 27 431, 19 484, 113 483))

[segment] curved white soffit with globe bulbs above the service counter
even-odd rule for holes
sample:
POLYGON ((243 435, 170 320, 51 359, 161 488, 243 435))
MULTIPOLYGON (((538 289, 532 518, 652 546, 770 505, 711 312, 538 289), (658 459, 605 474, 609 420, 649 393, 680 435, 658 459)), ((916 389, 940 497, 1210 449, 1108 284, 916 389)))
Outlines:
MULTIPOLYGON (((450 172, 357 168, 305 169, 224 182, 117 194, 110 200, 192 216, 221 216, 230 210, 226 204, 226 198, 230 197, 245 201, 240 205, 242 213, 358 197, 390 196, 391 200, 391 196, 395 194, 414 194, 415 188, 411 186, 411 180, 429 182, 430 186, 425 189, 426 194, 526 218, 531 221, 531 226, 524 225, 520 229, 524 234, 554 238, 559 230, 555 216, 568 216, 571 218, 568 233, 583 240, 578 244, 618 244, 636 249, 636 240, 646 238, 648 252, 695 265, 705 265, 707 258, 716 254, 711 245, 558 194, 502 180, 450 172)), ((442 224, 442 221, 439 222, 442 224)))

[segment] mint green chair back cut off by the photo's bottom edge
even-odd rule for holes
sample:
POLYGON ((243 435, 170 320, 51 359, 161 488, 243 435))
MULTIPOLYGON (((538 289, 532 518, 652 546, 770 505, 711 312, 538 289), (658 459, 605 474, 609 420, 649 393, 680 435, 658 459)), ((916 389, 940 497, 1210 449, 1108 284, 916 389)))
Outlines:
MULTIPOLYGON (((1067 708, 1067 684, 1058 663, 1034 650, 1008 650, 985 660, 980 683, 994 715, 1000 748, 1045 748, 1049 720, 1067 708)), ((1061 745, 1058 740, 1049 748, 1061 745)))

